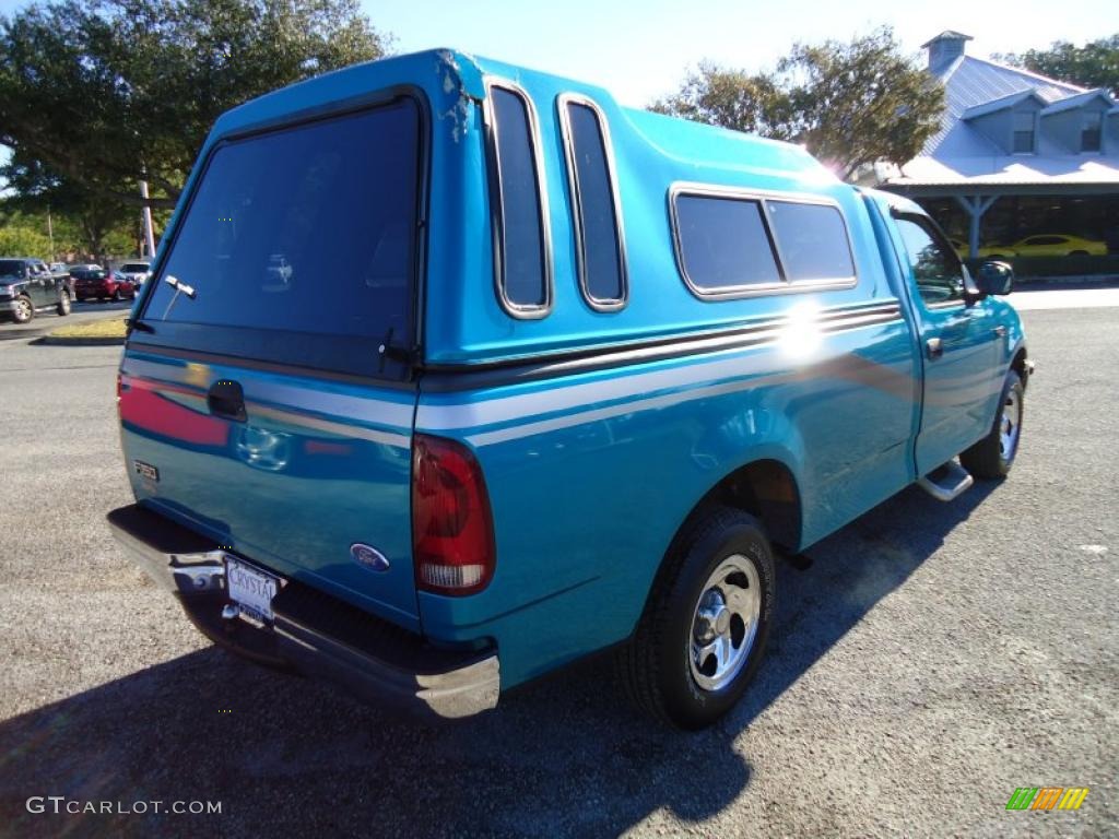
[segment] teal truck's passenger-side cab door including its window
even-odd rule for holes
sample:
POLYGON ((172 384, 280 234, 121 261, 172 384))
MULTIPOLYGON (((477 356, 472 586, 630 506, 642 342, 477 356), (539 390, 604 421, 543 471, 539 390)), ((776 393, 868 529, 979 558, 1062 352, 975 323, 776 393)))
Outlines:
POLYGON ((919 324, 924 399, 918 474, 928 474, 990 431, 1002 387, 998 324, 982 302, 965 300, 963 265, 927 216, 894 213, 909 261, 919 324))

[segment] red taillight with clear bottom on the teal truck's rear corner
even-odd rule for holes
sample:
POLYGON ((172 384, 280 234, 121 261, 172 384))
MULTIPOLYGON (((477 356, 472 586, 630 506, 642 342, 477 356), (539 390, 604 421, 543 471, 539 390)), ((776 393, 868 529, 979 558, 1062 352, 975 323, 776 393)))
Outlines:
POLYGON ((461 443, 415 435, 412 541, 420 588, 473 594, 493 576, 493 520, 486 481, 461 443))

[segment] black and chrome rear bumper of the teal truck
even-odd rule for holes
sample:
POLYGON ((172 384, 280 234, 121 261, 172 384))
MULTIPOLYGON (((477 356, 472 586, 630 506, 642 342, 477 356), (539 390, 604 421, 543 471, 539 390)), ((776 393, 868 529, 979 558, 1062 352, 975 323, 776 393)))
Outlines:
POLYGON ((335 682, 374 705, 466 717, 497 705, 490 649, 446 650, 294 579, 273 600, 273 624, 229 615, 225 556, 215 543, 140 505, 113 510, 110 529, 132 559, 172 592, 215 643, 274 667, 335 682))

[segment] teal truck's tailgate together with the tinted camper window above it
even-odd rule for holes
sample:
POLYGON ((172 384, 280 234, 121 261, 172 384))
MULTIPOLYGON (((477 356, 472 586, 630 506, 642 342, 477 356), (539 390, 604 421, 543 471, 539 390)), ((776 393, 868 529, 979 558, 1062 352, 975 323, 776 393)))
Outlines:
POLYGON ((148 507, 415 630, 421 104, 293 120, 196 167, 122 360, 124 455, 148 507))

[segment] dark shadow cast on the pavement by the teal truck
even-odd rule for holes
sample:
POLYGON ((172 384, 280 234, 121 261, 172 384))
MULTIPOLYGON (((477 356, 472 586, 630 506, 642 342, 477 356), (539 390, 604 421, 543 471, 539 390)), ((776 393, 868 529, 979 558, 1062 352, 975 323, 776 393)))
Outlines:
POLYGON ((749 794, 751 755, 735 738, 991 490, 940 505, 911 488, 809 550, 809 569, 781 564, 770 654, 711 730, 636 715, 604 658, 513 691, 493 714, 429 726, 207 648, 0 723, 0 832, 604 836, 662 810, 713 817, 749 794), (28 812, 36 795, 222 811, 28 812))

